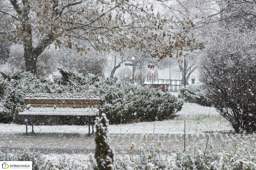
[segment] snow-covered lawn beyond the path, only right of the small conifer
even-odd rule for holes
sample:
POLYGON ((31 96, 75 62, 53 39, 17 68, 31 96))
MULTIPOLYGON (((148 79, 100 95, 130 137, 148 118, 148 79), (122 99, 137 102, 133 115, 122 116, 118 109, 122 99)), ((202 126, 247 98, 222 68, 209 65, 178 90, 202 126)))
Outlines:
MULTIPOLYGON (((172 120, 123 124, 121 132, 179 134, 184 133, 184 120, 187 134, 205 133, 209 130, 213 132, 232 130, 229 123, 225 123, 225 119, 214 108, 203 107, 195 103, 184 103, 182 110, 176 115, 172 120)), ((120 125, 111 125, 109 132, 120 133, 120 125)))

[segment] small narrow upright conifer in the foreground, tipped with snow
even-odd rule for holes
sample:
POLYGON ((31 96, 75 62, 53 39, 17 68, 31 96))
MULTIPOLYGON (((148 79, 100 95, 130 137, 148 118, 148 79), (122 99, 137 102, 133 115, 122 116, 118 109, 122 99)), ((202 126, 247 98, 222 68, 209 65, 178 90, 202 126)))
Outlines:
POLYGON ((114 150, 110 146, 110 138, 108 136, 108 119, 103 113, 101 118, 97 117, 95 120, 96 126, 96 149, 95 159, 98 167, 95 170, 112 170, 114 161, 114 150))

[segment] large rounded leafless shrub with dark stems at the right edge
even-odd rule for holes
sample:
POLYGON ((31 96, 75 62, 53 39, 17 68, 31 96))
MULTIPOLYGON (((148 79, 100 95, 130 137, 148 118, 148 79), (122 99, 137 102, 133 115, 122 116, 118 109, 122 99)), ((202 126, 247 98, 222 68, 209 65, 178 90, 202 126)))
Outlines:
POLYGON ((200 81, 236 132, 256 132, 255 33, 218 35, 200 60, 200 81))

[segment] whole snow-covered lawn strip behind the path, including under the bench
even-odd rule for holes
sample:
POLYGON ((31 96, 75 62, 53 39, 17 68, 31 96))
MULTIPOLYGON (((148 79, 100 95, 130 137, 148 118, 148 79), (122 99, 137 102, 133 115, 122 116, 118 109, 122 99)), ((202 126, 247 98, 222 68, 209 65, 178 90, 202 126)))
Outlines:
MULTIPOLYGON (((154 132, 158 134, 180 134, 184 133, 184 120, 186 122, 187 134, 206 133, 209 130, 213 132, 233 131, 229 123, 214 108, 200 106, 195 103, 184 103, 182 110, 171 120, 109 125, 109 133, 143 134, 154 132)), ((31 132, 31 129, 31 125, 28 125, 28 132, 31 132)), ((24 133, 25 130, 25 125, 0 124, 0 133, 24 133)), ((88 133, 88 126, 35 125, 34 131, 37 133, 65 132, 85 134, 88 133)))

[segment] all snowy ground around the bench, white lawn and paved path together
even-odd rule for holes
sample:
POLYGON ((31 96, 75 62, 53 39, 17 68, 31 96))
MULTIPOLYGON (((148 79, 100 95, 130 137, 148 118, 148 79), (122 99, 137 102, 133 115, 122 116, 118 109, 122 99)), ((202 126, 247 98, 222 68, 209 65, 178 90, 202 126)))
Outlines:
MULTIPOLYGON (((199 146, 206 143, 209 130, 213 146, 220 147, 224 141, 230 140, 228 147, 233 147, 243 140, 255 143, 255 135, 234 134, 231 126, 214 108, 203 107, 194 103, 184 103, 183 108, 171 120, 156 122, 138 122, 132 124, 109 125, 111 145, 119 153, 123 147, 129 151, 130 144, 135 143, 134 152, 138 152, 141 134, 146 134, 149 145, 154 133, 155 142, 161 141, 164 152, 184 148, 184 120, 186 122, 186 147, 199 146), (122 137, 120 137, 122 133, 122 137)), ((85 166, 88 154, 94 152, 94 135, 88 137, 88 126, 34 126, 36 133, 24 135, 25 125, 0 124, 0 150, 9 148, 15 151, 23 146, 39 149, 45 159, 57 161, 60 157, 79 162, 85 166)), ((28 126, 28 132, 31 126, 28 126)))

